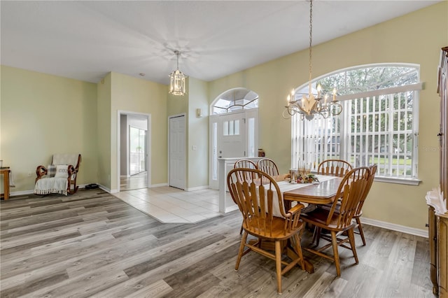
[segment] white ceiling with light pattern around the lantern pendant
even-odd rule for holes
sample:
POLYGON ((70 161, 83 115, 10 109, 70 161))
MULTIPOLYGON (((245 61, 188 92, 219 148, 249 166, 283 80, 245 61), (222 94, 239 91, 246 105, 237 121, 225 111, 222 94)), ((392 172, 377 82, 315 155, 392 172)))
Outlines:
MULTIPOLYGON (((439 1, 313 1, 313 44, 439 1)), ((1 64, 98 83, 210 81, 309 46, 309 1, 0 1, 1 64), (140 74, 144 74, 141 76, 140 74)))

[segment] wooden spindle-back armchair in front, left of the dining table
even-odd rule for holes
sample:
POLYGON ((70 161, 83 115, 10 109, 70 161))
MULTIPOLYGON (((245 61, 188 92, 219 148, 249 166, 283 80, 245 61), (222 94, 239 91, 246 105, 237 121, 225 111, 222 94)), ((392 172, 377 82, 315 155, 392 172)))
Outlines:
MULTIPOLYGON (((284 211, 283 197, 274 178, 257 169, 232 169, 227 177, 228 189, 233 201, 243 215, 244 233, 235 264, 238 270, 241 257, 251 250, 275 261, 277 292, 281 294, 281 276, 296 264, 304 269, 300 234, 303 222, 300 221, 302 204, 284 211), (241 180, 240 177, 249 177, 241 180), (266 183, 267 182, 267 183, 266 183), (279 208, 281 217, 274 216, 274 207, 279 208), (248 234, 255 236, 255 243, 247 241, 248 234), (262 246, 262 241, 274 242, 274 254, 262 246), (295 257, 291 262, 282 260, 282 252, 290 243, 295 257), (282 266, 286 265, 282 269, 282 266)), ((291 257, 290 254, 288 254, 291 257)))

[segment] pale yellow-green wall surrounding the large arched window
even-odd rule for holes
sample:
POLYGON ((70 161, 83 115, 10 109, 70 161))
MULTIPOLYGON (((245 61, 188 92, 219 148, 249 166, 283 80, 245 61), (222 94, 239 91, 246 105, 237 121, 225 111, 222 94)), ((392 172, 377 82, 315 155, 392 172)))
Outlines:
MULTIPOLYGON (((342 36, 313 47, 313 77, 360 64, 403 62, 420 64, 419 186, 375 182, 364 207, 365 218, 425 229, 425 194, 438 185, 437 137, 440 99, 436 93, 440 48, 448 45, 448 2, 342 36), (435 149, 435 150, 433 150, 435 149)), ((308 80, 308 51, 294 53, 209 83, 210 102, 234 87, 258 93, 260 148, 290 167, 290 120, 281 113, 293 87, 308 80), (282 144, 282 145, 281 145, 282 144)))

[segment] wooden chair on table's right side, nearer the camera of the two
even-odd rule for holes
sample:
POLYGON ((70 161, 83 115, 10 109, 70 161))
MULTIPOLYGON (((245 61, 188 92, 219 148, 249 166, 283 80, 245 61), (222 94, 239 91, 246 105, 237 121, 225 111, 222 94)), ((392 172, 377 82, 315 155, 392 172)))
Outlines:
POLYGON ((330 210, 326 208, 316 208, 314 211, 302 214, 302 220, 304 222, 321 229, 327 229, 330 232, 330 235, 321 235, 322 239, 330 241, 328 245, 321 248, 316 246, 313 248, 304 248, 304 250, 334 261, 337 276, 341 276, 338 252, 339 246, 350 249, 356 264, 358 264, 358 255, 356 253, 354 237, 356 223, 352 220, 353 216, 356 215, 358 204, 363 198, 363 194, 369 182, 369 177, 370 169, 366 166, 352 169, 346 173, 344 178, 342 178, 330 210), (340 201, 338 201, 337 198, 340 198, 340 201), (336 212, 336 208, 339 208, 339 212, 336 212), (349 242, 350 246, 346 246, 345 243, 347 242, 349 242), (330 247, 332 247, 332 255, 323 253, 323 250, 330 247))

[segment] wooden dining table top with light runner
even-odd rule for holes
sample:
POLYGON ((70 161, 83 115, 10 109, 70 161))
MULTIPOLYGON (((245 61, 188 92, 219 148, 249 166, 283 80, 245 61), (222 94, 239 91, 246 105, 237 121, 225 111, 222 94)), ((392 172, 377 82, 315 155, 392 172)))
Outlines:
POLYGON ((309 184, 283 192, 283 200, 300 201, 308 204, 328 204, 335 199, 342 178, 335 177, 318 184, 309 184))

